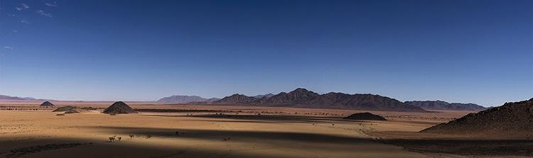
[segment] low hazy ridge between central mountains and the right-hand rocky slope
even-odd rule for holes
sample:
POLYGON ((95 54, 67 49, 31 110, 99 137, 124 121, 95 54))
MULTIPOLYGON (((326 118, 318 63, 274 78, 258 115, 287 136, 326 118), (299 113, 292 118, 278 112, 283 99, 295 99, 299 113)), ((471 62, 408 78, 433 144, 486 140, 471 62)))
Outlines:
POLYGON ((488 109, 475 103, 448 103, 446 101, 406 101, 404 103, 411 106, 418 106, 425 110, 484 111, 488 109))

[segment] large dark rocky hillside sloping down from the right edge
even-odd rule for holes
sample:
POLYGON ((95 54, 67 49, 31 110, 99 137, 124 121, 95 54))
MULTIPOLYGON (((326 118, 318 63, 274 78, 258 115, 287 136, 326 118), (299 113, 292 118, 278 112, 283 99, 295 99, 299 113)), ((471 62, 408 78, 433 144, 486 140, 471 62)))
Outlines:
POLYGON ((533 135, 533 98, 470 113, 421 132, 473 135, 533 135))

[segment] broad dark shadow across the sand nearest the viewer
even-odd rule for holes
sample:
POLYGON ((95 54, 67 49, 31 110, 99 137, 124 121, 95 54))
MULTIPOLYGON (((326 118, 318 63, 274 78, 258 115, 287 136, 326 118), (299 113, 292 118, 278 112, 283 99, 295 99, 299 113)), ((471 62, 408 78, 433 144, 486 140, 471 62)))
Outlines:
MULTIPOLYGON (((183 128, 126 128, 114 126, 89 126, 86 128, 97 128, 99 130, 109 130, 116 135, 150 135, 152 139, 163 138, 164 140, 209 140, 210 143, 217 143, 222 146, 219 149, 204 149, 198 147, 178 146, 153 146, 149 144, 124 143, 124 142, 105 142, 102 140, 87 140, 76 138, 51 138, 45 142, 36 143, 35 140, 24 140, 21 142, 11 142, 14 149, 0 151, 0 154, 11 155, 9 157, 18 157, 24 154, 32 154, 29 151, 32 147, 42 147, 48 145, 50 149, 62 152, 88 153, 97 151, 96 154, 78 155, 77 157, 127 157, 127 156, 144 156, 144 157, 203 157, 205 155, 230 155, 231 157, 283 157, 280 155, 252 155, 249 152, 235 152, 231 148, 225 148, 226 142, 252 142, 252 144, 278 146, 286 144, 284 147, 306 148, 311 150, 323 151, 350 151, 357 149, 352 145, 365 147, 375 143, 386 143, 398 145, 409 149, 413 152, 421 153, 446 153, 461 155, 486 155, 486 156, 533 156, 533 141, 531 140, 400 140, 384 139, 373 140, 371 138, 350 137, 344 135, 326 135, 306 132, 274 132, 274 131, 247 131, 247 130, 195 130, 183 128), (178 132, 178 135, 176 135, 178 132), (33 141, 33 142, 32 142, 33 141), (283 142, 290 143, 283 143, 283 142), (94 143, 90 143, 94 142, 94 143), (282 142, 282 143, 280 143, 282 142), (43 144, 45 143, 45 144, 43 144), (72 146, 72 149, 65 143, 90 143, 90 145, 72 146), (25 146, 21 146, 25 145, 25 146), (41 145, 41 146, 39 146, 41 145), (22 151, 22 152, 20 152, 22 151), (125 152, 127 151, 127 152, 125 152), (3 153, 2 153, 3 152, 3 153), (121 154, 122 153, 122 154, 121 154), (14 156, 16 155, 16 156, 14 156)), ((123 140, 128 141, 128 140, 123 140)), ((4 141, 0 141, 6 145, 4 141)), ((9 143, 8 143, 9 144, 9 143)), ((195 145, 190 145, 195 146, 195 145)), ((38 150, 38 152, 41 152, 38 150)), ((386 153, 389 151, 381 151, 386 153)), ((53 152, 46 151, 41 153, 43 157, 53 156, 53 152)), ((40 156, 41 156, 40 154, 40 156)), ((69 154, 65 154, 68 156, 69 154)))

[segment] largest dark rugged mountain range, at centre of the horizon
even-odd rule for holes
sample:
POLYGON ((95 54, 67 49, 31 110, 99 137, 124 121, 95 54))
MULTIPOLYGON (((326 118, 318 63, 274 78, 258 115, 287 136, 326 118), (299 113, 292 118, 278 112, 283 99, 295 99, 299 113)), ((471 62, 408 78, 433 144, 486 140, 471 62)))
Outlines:
POLYGON ((416 111, 426 112, 418 106, 411 106, 394 98, 374 94, 317 94, 307 89, 298 88, 289 93, 281 92, 274 96, 257 98, 233 94, 214 104, 239 104, 247 106, 282 106, 294 108, 340 108, 375 111, 416 111))

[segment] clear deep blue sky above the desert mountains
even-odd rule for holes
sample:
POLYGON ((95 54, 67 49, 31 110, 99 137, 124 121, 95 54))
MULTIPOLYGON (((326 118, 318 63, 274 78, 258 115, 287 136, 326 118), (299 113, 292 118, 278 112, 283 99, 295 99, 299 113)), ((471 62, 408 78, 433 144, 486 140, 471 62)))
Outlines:
POLYGON ((0 94, 533 97, 533 1, 0 1, 0 94))

